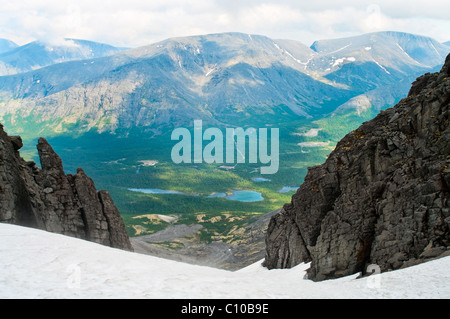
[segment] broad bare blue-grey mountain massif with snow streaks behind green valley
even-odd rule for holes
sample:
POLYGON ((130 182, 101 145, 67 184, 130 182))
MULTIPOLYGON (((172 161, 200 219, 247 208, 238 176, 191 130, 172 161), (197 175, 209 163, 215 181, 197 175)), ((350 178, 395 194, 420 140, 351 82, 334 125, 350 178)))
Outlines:
POLYGON ((312 48, 240 33, 173 38, 0 77, 0 119, 18 132, 38 125, 53 134, 161 133, 193 119, 258 125, 320 117, 361 95, 366 107, 380 109, 383 88, 397 86, 390 96, 398 100, 395 92, 405 90, 399 83, 442 65, 448 50, 393 32, 312 48))

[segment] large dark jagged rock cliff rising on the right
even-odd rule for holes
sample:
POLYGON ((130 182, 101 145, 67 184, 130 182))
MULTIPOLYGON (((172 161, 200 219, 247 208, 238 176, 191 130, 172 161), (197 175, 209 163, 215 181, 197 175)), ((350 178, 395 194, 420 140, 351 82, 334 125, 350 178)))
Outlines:
POLYGON ((269 224, 265 265, 311 261, 308 277, 324 280, 448 254, 449 104, 450 56, 309 169, 269 224))

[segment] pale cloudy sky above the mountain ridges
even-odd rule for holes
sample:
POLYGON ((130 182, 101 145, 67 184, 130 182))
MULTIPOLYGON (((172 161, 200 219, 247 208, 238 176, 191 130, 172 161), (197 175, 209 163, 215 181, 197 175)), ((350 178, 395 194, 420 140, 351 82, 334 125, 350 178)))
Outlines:
POLYGON ((176 36, 244 32, 314 40, 403 31, 450 41, 448 0, 0 0, 0 38, 76 38, 138 47, 176 36))

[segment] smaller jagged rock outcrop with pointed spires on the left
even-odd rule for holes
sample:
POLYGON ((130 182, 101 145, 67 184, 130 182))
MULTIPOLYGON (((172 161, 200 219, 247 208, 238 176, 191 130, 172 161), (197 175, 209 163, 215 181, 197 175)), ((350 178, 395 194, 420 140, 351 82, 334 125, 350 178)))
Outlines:
POLYGON ((125 224, 107 191, 97 192, 82 169, 66 175, 61 158, 40 138, 41 168, 25 162, 22 140, 0 124, 0 222, 35 227, 132 250, 125 224))

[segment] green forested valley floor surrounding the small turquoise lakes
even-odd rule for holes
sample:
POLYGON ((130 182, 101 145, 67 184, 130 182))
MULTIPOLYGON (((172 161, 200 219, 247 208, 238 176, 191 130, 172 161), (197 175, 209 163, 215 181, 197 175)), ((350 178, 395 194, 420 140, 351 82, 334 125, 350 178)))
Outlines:
MULTIPOLYGON (((261 164, 229 165, 234 168, 221 167, 228 164, 174 164, 170 154, 176 141, 170 139, 170 132, 154 138, 136 131, 127 137, 87 133, 79 137, 49 136, 48 139, 60 154, 67 173, 75 173, 82 167, 98 189, 110 192, 130 236, 154 233, 170 225, 165 221, 134 218, 160 214, 177 216, 173 224, 201 223, 203 229, 199 237, 204 242, 217 238, 233 241, 239 234, 237 228, 288 203, 294 190, 287 193, 279 190, 284 186, 300 186, 308 167, 322 163, 337 141, 373 116, 372 113, 361 116, 347 112, 316 121, 273 124, 280 128, 280 168, 273 175, 259 174, 261 164), (318 147, 299 145, 305 142, 313 142, 305 145, 322 144, 318 143, 318 147), (154 161, 150 162, 153 165, 142 162, 149 160, 154 161), (270 181, 253 181, 256 177, 270 181), (184 194, 144 194, 129 188, 156 188, 184 194), (264 200, 240 202, 223 197, 207 198, 214 193, 230 194, 239 189, 259 192, 264 200), (199 221, 199 215, 207 218, 199 221), (224 218, 230 215, 240 218, 232 222, 224 218), (228 236, 230 233, 232 235, 228 236)), ((25 135, 24 142, 21 153, 25 158, 35 159, 36 139, 25 135)))

